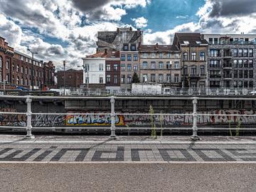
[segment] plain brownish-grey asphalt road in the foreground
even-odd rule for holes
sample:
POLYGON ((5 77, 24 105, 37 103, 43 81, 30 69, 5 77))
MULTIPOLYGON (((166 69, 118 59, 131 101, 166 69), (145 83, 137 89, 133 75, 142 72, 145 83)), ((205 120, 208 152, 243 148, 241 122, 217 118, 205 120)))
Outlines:
POLYGON ((256 164, 0 164, 0 191, 256 191, 256 164))

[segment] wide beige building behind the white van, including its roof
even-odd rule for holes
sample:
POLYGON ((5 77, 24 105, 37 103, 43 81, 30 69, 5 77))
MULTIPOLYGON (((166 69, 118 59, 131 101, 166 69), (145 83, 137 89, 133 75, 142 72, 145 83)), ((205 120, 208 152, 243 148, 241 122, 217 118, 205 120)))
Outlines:
POLYGON ((142 45, 139 57, 140 82, 181 87, 181 53, 176 46, 142 45))

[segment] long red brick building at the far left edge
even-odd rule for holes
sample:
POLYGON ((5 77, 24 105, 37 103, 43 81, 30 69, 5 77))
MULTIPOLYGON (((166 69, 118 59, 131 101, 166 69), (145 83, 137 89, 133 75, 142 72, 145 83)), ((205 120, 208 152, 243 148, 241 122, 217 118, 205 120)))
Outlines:
POLYGON ((6 88, 16 85, 31 88, 32 78, 35 90, 47 90, 54 87, 55 67, 51 61, 43 63, 34 59, 32 77, 32 58, 8 46, 4 38, 0 37, 0 88, 6 81, 6 88))

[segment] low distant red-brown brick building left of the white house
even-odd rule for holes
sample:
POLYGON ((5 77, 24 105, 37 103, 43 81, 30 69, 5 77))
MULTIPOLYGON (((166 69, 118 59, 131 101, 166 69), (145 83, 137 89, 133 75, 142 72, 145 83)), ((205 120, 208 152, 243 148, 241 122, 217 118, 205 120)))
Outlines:
MULTIPOLYGON (((64 87, 64 70, 57 72, 58 88, 64 87)), ((82 70, 65 71, 65 87, 80 87, 82 85, 82 70)))

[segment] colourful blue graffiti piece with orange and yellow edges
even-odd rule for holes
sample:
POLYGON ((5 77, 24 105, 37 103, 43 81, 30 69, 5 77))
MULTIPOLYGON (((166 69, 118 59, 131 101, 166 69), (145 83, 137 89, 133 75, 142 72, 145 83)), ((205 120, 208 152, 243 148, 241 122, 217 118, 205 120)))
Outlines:
MULTIPOLYGON (((124 117, 116 115, 114 122, 116 125, 124 125, 124 117)), ((109 114, 93 115, 93 114, 80 114, 68 115, 65 121, 66 125, 111 125, 111 116, 109 114)))

